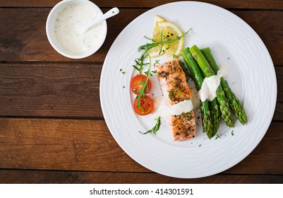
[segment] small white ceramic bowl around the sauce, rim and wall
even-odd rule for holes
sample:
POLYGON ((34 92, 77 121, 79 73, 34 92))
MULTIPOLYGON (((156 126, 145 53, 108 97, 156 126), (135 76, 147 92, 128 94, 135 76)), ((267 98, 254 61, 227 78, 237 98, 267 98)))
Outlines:
POLYGON ((46 33, 47 33, 47 38, 50 42, 50 44, 52 45, 52 47, 54 48, 54 50, 56 50, 57 52, 59 52, 60 54, 64 55, 65 57, 71 58, 71 59, 82 59, 85 57, 89 57, 90 55, 94 54, 95 52, 97 52, 97 50, 100 49, 100 47, 102 46, 106 35, 107 35, 107 22, 106 20, 102 21, 102 28, 103 30, 103 35, 102 37, 100 37, 100 40, 98 41, 98 44, 93 47, 91 50, 89 50, 88 52, 85 52, 83 54, 78 54, 78 55, 73 55, 71 53, 66 52, 66 50, 64 50, 60 45, 59 42, 56 39, 56 35, 54 33, 54 27, 55 27, 55 22, 56 22, 56 17, 58 16, 58 13, 64 9, 67 4, 73 3, 73 2, 82 2, 83 4, 87 4, 88 6, 90 6, 90 8, 93 8, 95 11, 97 11, 97 13, 99 13, 99 16, 102 16, 103 13, 101 11, 101 9, 95 5, 94 3, 92 3, 91 1, 88 0, 64 0, 64 1, 60 1, 58 4, 56 4, 56 6, 54 6, 54 8, 52 8, 52 11, 50 11, 48 17, 47 17, 47 23, 46 23, 46 33))

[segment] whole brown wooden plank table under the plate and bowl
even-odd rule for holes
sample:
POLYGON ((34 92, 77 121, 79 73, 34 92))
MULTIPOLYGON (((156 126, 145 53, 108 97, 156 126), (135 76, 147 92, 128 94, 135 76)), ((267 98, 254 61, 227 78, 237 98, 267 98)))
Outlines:
POLYGON ((117 6, 120 13, 107 21, 111 31, 102 48, 85 59, 68 59, 49 45, 45 23, 58 2, 0 2, 1 183, 283 182, 282 0, 206 0, 235 13, 262 38, 277 74, 277 107, 248 157, 223 173, 186 180, 133 161, 112 137, 100 107, 100 73, 114 39, 141 13, 171 1, 94 1, 104 12, 117 6))

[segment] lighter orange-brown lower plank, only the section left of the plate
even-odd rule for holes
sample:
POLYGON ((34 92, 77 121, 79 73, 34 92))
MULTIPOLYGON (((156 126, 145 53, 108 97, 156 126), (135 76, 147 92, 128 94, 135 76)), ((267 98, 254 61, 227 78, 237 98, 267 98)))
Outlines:
POLYGON ((102 120, 0 118, 0 168, 148 172, 102 120))

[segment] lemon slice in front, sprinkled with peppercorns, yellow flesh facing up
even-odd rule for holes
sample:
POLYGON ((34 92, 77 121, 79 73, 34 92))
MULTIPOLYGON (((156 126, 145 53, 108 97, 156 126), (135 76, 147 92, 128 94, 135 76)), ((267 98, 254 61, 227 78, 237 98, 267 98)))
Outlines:
MULTIPOLYGON (((166 40, 174 40, 176 37, 181 37, 183 35, 182 30, 175 23, 171 23, 169 21, 160 21, 158 22, 159 30, 162 31, 164 37, 162 38, 164 41, 166 40)), ((170 42, 169 44, 164 45, 166 49, 166 57, 167 59, 173 59, 174 55, 179 57, 183 50, 183 37, 180 40, 175 40, 174 42, 170 42)))

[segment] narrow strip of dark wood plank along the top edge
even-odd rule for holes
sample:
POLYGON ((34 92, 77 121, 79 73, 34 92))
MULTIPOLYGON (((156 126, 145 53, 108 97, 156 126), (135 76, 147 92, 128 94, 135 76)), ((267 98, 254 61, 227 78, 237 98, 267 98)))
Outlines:
MULTIPOLYGON (((60 0, 47 0, 47 1, 20 1, 20 0, 2 0, 0 6, 55 6, 60 0)), ((104 1, 98 0, 95 2, 97 6, 100 7, 138 7, 138 8, 152 8, 162 4, 167 4, 174 2, 174 0, 159 0, 159 1, 136 1, 136 0, 127 0, 127 1, 104 1)), ((238 1, 224 1, 224 0, 205 0, 204 2, 215 4, 217 6, 222 6, 224 8, 262 8, 262 9, 271 9, 271 8, 283 8, 283 2, 280 0, 269 0, 269 1, 257 1, 257 0, 238 0, 238 1)))

